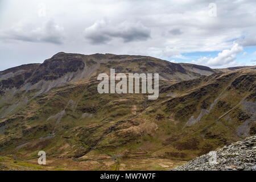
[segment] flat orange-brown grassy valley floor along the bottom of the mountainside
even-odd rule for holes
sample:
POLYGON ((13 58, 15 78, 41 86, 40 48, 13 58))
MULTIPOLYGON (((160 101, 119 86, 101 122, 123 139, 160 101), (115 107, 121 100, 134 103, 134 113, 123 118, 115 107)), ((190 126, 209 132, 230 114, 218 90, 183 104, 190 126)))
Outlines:
POLYGON ((15 156, 7 155, 0 157, 0 171, 93 171, 93 170, 156 170, 162 171, 187 163, 185 160, 160 159, 160 158, 127 158, 113 160, 112 158, 100 156, 98 159, 55 159, 47 158, 46 165, 39 165, 37 159, 15 160, 15 156))

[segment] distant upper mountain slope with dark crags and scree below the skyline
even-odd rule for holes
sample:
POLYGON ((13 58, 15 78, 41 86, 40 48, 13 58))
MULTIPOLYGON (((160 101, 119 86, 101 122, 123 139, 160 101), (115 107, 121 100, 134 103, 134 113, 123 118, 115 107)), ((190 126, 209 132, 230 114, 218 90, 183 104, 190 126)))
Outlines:
MULTIPOLYGON (((123 73, 159 73, 160 79, 174 81, 202 76, 200 68, 192 71, 181 64, 154 57, 59 52, 43 64, 22 65, 0 72, 0 118, 22 109, 31 96, 46 93, 56 86, 89 80, 99 73, 109 73, 110 68, 123 73)), ((208 69, 208 74, 215 73, 210 68, 204 69, 208 69)))

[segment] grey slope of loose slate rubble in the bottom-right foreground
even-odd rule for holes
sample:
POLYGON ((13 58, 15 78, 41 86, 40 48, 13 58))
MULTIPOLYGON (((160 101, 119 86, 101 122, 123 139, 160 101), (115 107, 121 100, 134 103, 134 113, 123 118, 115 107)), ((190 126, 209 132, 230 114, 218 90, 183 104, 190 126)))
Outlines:
POLYGON ((217 150, 216 164, 210 164, 210 153, 176 167, 172 171, 256 171, 256 136, 217 150))

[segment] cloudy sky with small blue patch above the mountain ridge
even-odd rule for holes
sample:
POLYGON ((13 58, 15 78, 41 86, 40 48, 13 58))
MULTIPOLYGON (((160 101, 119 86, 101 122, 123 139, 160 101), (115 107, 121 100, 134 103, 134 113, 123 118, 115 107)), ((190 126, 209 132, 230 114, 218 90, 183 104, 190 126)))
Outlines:
POLYGON ((0 0, 0 70, 57 52, 256 64, 252 0, 0 0))

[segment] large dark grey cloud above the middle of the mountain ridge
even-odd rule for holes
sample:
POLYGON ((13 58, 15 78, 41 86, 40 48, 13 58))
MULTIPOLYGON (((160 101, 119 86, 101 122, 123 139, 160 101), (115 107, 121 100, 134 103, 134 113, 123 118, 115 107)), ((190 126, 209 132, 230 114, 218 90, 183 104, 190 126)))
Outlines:
POLYGON ((113 24, 101 20, 85 28, 84 37, 93 44, 105 44, 114 38, 121 38, 126 43, 149 39, 150 30, 141 23, 123 22, 113 24))

